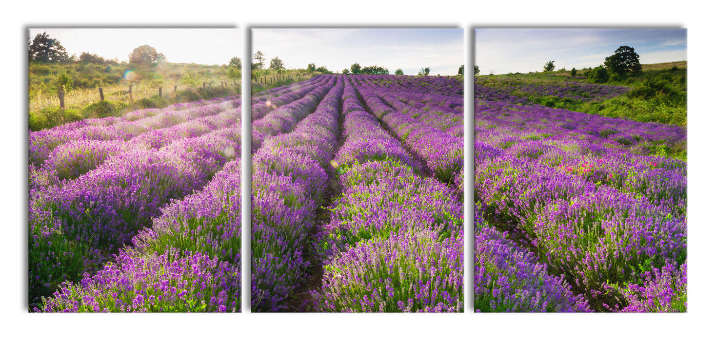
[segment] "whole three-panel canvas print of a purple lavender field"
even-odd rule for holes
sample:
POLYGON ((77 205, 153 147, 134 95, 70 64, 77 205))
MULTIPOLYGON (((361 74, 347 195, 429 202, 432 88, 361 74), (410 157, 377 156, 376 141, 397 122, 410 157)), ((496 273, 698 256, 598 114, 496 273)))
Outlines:
POLYGON ((29 30, 29 312, 687 312, 686 29, 249 30, 29 30))

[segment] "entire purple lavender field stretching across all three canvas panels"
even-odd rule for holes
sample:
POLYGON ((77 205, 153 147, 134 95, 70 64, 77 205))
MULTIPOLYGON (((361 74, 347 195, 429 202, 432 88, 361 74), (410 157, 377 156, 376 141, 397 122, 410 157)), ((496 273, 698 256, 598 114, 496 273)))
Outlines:
MULTIPOLYGON (((252 312, 465 311, 470 182, 475 311, 687 310, 687 162, 659 153, 684 127, 475 84, 468 182, 463 92, 324 74, 253 96, 252 312)), ((30 132, 30 310, 240 312, 241 104, 30 132)))

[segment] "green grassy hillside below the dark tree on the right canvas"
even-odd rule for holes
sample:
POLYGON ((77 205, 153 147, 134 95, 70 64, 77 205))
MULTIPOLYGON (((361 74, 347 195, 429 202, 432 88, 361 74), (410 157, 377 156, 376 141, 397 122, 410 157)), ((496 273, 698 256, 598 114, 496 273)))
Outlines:
POLYGON ((575 76, 569 70, 476 76, 475 89, 488 87, 573 112, 686 126, 686 61, 643 64, 640 74, 609 74, 602 83, 589 79, 590 71, 576 70, 575 76))

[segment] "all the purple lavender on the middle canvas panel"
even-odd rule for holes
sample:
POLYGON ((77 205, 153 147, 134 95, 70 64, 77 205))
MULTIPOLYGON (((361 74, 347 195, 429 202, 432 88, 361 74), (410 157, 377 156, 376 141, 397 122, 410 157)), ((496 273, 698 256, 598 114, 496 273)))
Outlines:
POLYGON ((462 93, 323 75, 253 97, 252 311, 464 310, 462 93))

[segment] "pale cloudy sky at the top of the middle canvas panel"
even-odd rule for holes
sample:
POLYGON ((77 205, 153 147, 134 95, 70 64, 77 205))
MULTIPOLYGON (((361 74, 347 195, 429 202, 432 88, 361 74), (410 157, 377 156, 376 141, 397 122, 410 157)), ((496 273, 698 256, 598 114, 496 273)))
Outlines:
POLYGON ((264 64, 279 57, 287 69, 315 63, 334 72, 382 66, 395 74, 458 74, 465 64, 463 29, 251 29, 251 54, 263 52, 264 64))

